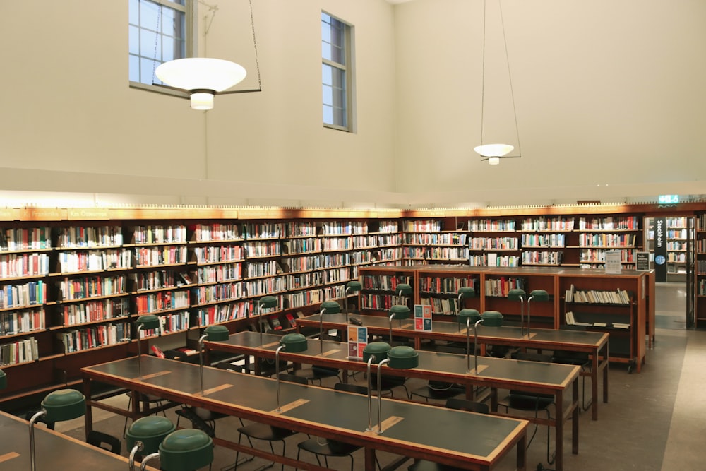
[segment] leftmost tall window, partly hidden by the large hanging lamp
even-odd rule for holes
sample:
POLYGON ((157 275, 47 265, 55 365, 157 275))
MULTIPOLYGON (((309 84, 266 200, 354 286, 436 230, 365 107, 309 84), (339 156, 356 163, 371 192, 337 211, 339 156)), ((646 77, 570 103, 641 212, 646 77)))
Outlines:
POLYGON ((129 0, 130 81, 152 85, 162 62, 191 52, 191 0, 129 0))

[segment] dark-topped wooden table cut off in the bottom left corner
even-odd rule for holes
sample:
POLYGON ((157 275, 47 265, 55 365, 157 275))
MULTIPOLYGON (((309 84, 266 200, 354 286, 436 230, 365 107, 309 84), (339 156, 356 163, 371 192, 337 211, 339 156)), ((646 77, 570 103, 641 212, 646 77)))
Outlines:
MULTIPOLYGON (((30 469, 30 436, 28 422, 6 412, 0 412, 0 469, 30 469)), ((83 441, 35 427, 37 470, 125 471, 128 460, 83 441)), ((150 471, 157 471, 149 467, 150 471)))

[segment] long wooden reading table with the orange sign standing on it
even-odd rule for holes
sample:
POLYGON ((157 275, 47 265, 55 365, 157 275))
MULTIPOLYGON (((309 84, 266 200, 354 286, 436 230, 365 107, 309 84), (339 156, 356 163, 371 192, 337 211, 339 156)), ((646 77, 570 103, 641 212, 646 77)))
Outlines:
MULTIPOLYGON (((263 334, 263 345, 260 344, 260 334, 255 332, 239 332, 232 334, 223 342, 204 342, 209 352, 217 350, 236 354, 246 354, 258 358, 275 358, 275 350, 279 345, 279 335, 263 334)), ((556 469, 563 465, 563 424, 572 419, 572 451, 578 453, 578 378, 579 366, 565 364, 549 364, 541 362, 525 362, 513 359, 479 357, 476 374, 469 372, 465 355, 419 351, 419 366, 413 369, 385 368, 386 375, 421 378, 460 383, 466 386, 467 395, 472 386, 491 388, 491 410, 498 410, 498 388, 517 389, 527 393, 550 394, 556 398, 556 413, 553 419, 537 419, 536 422, 549 424, 555 428, 556 469), (572 386, 572 394, 568 404, 565 404, 565 391, 572 386)), ((366 371, 367 364, 362 360, 349 359, 347 343, 325 340, 308 340, 307 350, 299 353, 280 351, 280 360, 297 364, 313 364, 329 366, 344 371, 366 371), (321 350, 323 346, 323 351, 321 350)), ((256 365, 259 362, 256 360, 256 365)), ((471 368, 474 361, 471 358, 471 368)), ((373 371, 377 371, 377 365, 373 371)), ((257 373, 257 371, 256 371, 257 373)), ((347 375, 344 374, 344 377, 347 375)), ((534 418, 530 419, 534 421, 534 418)))

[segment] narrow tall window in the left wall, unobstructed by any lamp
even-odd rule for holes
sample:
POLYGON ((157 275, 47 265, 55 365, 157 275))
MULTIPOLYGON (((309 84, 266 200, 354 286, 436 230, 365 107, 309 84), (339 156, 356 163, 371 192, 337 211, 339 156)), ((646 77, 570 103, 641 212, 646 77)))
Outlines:
POLYGON ((352 27, 321 12, 323 124, 352 131, 352 27))

